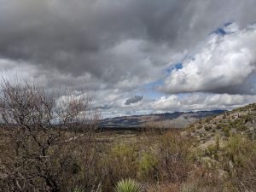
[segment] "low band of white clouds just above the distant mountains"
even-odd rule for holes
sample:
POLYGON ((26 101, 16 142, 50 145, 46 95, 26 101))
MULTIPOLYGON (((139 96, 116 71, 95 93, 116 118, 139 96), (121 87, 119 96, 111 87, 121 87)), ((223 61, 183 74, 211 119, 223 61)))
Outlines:
MULTIPOLYGON (((105 109, 99 108, 102 114, 102 118, 177 111, 188 112, 201 110, 233 109, 256 102, 256 96, 251 95, 189 93, 182 96, 161 96, 156 100, 145 99, 141 102, 134 103, 132 106, 127 106, 124 105, 125 101, 122 99, 122 97, 123 96, 117 97, 115 102, 104 102, 112 104, 109 106, 102 106, 105 109)), ((113 100, 111 99, 108 101, 113 100)))

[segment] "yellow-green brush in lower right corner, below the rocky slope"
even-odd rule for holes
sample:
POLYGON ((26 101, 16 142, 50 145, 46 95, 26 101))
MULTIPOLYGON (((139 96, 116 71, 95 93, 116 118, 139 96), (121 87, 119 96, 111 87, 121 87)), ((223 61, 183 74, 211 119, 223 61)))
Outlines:
MULTIPOLYGON (((223 141, 224 142, 224 141, 223 141)), ((226 143, 208 146, 208 157, 201 159, 186 183, 194 183, 196 191, 253 191, 256 189, 256 142, 232 135, 226 143)), ((193 185, 194 186, 194 185, 193 185)))

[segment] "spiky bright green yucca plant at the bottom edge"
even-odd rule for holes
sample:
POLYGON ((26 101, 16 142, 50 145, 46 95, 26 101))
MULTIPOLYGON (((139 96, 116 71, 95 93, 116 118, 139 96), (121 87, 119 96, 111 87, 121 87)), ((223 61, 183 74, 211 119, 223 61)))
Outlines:
POLYGON ((114 192, 142 192, 142 186, 131 178, 123 179, 117 183, 114 192))

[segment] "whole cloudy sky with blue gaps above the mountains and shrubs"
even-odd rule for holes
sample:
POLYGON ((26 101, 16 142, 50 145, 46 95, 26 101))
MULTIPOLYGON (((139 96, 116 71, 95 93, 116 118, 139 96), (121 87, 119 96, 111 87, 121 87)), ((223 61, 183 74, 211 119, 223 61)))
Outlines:
POLYGON ((0 0, 0 71, 102 118, 256 102, 255 0, 0 0))

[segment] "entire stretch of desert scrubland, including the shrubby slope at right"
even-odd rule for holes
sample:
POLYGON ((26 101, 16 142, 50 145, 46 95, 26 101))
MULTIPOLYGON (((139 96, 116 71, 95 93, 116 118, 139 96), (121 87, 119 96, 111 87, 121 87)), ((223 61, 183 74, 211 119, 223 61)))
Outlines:
MULTIPOLYGON (((25 101, 39 108, 38 96, 25 101)), ((42 130, 42 116, 26 121, 29 129, 24 121, 0 129, 1 192, 256 191, 256 104, 169 131, 56 129, 48 121, 42 130)))

